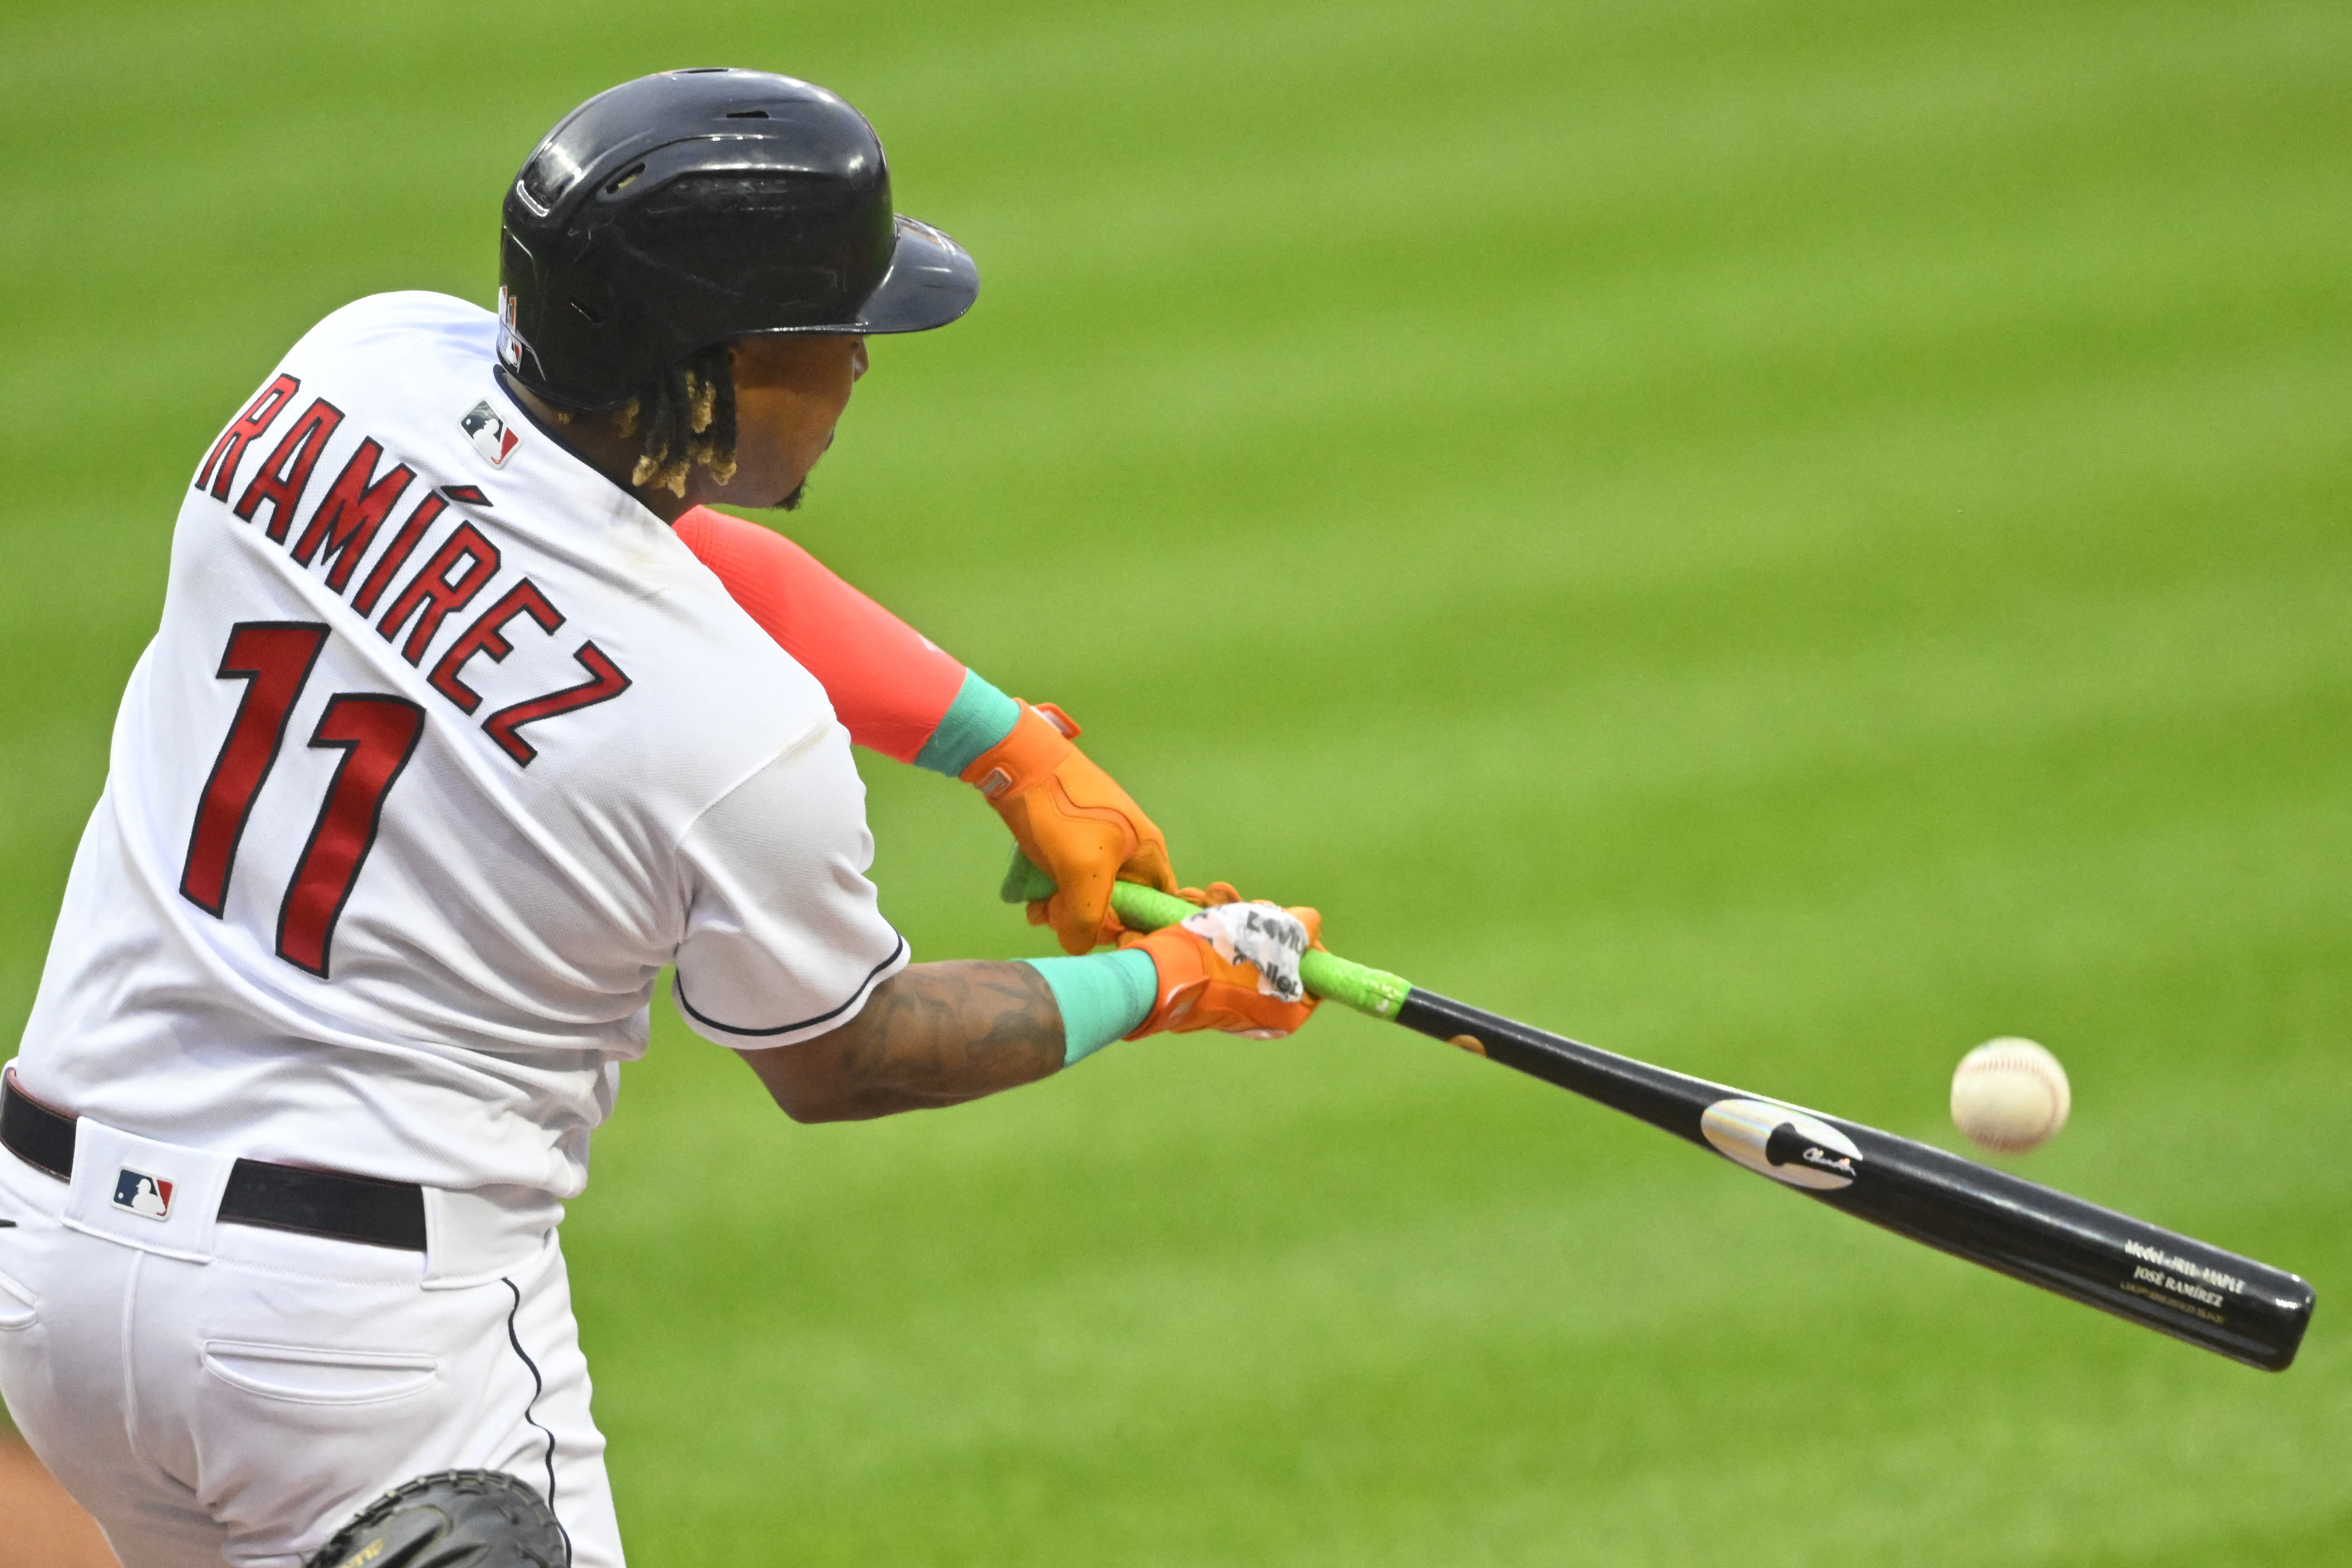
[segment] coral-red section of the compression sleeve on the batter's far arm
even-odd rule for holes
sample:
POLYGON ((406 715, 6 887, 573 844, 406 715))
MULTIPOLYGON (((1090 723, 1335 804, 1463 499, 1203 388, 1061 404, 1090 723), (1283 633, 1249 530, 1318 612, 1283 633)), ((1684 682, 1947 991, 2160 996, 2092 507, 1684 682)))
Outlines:
POLYGON ((962 663, 771 529, 706 505, 673 527, 727 595, 816 677, 851 741, 915 762, 964 691, 962 663))

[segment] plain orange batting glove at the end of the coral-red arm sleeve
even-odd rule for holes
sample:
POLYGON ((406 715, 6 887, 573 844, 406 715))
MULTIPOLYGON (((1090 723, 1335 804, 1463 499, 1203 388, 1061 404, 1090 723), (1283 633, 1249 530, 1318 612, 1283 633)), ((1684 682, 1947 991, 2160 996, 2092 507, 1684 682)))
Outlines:
POLYGON ((1110 773, 1070 745, 1077 724, 1047 703, 1021 703, 1009 736, 974 757, 962 778, 997 809, 1030 863, 1054 879, 1035 900, 1033 926, 1054 926, 1063 952, 1091 952, 1117 933, 1110 884, 1176 891, 1169 846, 1110 773))

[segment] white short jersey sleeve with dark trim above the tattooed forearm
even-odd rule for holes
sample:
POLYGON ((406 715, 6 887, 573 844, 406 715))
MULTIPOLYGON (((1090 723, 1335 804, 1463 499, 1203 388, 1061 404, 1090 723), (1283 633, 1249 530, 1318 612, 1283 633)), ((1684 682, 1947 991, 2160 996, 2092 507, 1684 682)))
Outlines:
POLYGON ((696 818, 677 846, 687 893, 673 997, 703 1039, 739 1051, 835 1030, 908 947, 866 867, 866 788, 823 724, 696 818))

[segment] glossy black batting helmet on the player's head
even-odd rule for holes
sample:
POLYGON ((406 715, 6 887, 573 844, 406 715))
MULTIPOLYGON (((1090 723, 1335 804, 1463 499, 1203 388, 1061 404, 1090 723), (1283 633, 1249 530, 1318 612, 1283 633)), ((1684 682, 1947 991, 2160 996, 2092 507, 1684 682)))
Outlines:
POLYGON ((506 193, 499 360, 609 409, 687 355, 769 331, 924 331, 971 256, 891 212, 866 118, 767 71, 663 71, 588 99, 506 193))

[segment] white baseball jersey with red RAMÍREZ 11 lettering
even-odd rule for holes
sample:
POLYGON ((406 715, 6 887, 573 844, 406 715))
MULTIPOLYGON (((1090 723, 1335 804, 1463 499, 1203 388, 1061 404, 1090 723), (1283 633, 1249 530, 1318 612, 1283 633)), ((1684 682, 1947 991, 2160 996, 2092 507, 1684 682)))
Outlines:
POLYGON ((572 1197, 677 964, 774 1046, 906 964, 823 689, 494 378, 336 310, 172 541, 16 1077, 198 1150, 572 1197))

